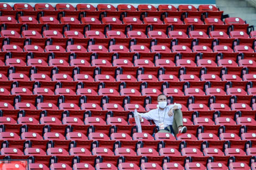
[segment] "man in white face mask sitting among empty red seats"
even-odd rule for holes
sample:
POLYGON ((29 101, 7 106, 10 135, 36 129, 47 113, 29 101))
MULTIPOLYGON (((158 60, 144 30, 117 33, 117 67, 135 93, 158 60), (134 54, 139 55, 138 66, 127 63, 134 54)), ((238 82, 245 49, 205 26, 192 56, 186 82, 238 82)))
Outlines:
POLYGON ((156 109, 152 109, 147 113, 138 113, 139 118, 153 120, 159 127, 158 133, 186 133, 187 127, 183 126, 183 118, 180 104, 172 104, 167 106, 167 98, 164 94, 158 95, 158 105, 156 109))

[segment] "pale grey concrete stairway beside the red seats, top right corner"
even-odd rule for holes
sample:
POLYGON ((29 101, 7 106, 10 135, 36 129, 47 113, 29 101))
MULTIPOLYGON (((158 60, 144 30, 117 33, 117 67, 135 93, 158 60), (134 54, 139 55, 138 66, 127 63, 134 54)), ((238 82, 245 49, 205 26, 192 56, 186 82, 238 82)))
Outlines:
POLYGON ((245 0, 216 0, 216 6, 230 17, 239 16, 249 25, 256 25, 256 8, 245 0))

